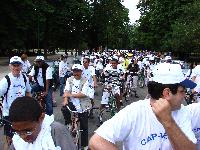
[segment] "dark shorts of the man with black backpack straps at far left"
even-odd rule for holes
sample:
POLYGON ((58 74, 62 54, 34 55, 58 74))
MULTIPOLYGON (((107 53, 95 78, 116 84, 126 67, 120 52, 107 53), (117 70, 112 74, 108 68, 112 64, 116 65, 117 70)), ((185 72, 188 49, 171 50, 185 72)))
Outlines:
POLYGON ((9 122, 9 116, 3 117, 3 124, 4 124, 4 135, 12 138, 14 135, 14 130, 12 129, 11 123, 9 122))

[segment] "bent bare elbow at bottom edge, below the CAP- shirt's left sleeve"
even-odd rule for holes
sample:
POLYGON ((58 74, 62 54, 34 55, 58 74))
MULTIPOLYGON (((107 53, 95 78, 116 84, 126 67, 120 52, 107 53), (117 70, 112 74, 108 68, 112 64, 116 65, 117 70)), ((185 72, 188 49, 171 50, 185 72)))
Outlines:
POLYGON ((103 139, 98 134, 94 134, 89 141, 89 148, 91 150, 118 150, 116 145, 103 139))

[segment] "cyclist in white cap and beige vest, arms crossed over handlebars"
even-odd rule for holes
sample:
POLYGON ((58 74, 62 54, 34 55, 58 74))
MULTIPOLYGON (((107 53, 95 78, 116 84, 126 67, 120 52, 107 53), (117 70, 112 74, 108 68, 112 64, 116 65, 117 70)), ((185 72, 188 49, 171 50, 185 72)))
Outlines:
MULTIPOLYGON (((88 80, 82 76, 83 66, 74 64, 72 66, 73 76, 68 78, 64 89, 63 106, 67 104, 75 107, 79 112, 81 132, 81 146, 87 149, 88 146, 88 112, 85 111, 91 108, 90 93, 91 88, 88 80)), ((62 113, 65 119, 65 124, 69 126, 71 117, 69 110, 62 108, 62 113)))

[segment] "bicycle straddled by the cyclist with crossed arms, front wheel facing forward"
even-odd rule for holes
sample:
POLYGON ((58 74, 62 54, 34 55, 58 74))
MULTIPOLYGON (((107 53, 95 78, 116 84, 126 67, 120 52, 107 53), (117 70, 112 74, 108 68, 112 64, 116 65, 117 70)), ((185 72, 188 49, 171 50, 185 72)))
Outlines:
POLYGON ((82 147, 81 147, 81 132, 83 132, 84 130, 82 130, 80 128, 79 114, 89 112, 91 110, 91 108, 87 108, 82 112, 78 112, 77 110, 72 110, 68 105, 66 105, 66 108, 71 113, 71 125, 68 126, 68 129, 71 133, 71 136, 73 138, 74 144, 77 147, 77 150, 80 150, 80 149, 82 149, 82 147))

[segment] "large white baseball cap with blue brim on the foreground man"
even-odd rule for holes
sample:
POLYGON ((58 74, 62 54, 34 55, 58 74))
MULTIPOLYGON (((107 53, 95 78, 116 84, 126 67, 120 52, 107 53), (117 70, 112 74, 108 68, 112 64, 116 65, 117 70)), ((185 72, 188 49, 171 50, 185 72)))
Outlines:
POLYGON ((193 89, 196 83, 186 79, 179 64, 161 63, 153 70, 153 81, 161 84, 180 83, 186 88, 193 89))

